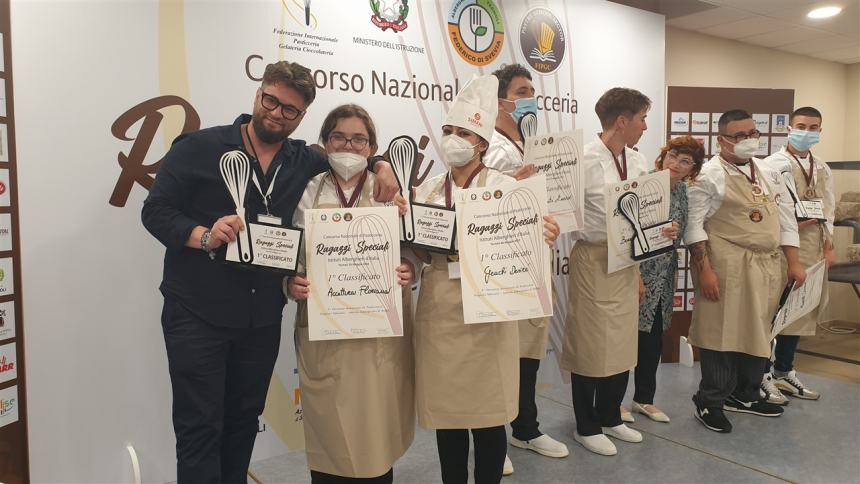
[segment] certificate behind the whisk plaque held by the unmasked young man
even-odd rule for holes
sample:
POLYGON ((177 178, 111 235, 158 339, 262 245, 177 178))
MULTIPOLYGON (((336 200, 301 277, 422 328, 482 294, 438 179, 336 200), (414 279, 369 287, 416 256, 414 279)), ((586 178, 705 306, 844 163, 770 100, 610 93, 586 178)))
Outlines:
POLYGON ((661 170, 606 186, 609 273, 674 249, 662 230, 669 220, 669 172, 661 170))

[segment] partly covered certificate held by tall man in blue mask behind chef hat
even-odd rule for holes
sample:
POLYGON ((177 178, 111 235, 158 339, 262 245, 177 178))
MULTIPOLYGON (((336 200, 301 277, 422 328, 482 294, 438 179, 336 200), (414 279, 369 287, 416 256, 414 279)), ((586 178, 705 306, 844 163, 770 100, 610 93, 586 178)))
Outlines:
POLYGON ((546 175, 547 207, 561 233, 582 228, 582 130, 526 138, 523 163, 546 175))

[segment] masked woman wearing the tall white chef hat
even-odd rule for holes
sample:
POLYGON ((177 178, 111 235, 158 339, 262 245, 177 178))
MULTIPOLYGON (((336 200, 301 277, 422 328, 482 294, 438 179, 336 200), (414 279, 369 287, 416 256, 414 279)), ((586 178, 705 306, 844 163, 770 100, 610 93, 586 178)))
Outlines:
MULTIPOLYGON (((484 166, 492 137, 498 79, 473 79, 460 91, 442 126, 447 171, 416 187, 415 201, 453 207, 459 189, 491 187, 514 179, 484 166)), ((558 224, 544 219, 552 245, 558 224)), ((415 314, 415 399, 422 427, 436 430, 442 481, 468 481, 469 433, 475 441, 475 482, 498 483, 507 450, 505 425, 517 416, 519 339, 516 321, 466 324, 456 256, 415 250, 426 264, 415 314)))

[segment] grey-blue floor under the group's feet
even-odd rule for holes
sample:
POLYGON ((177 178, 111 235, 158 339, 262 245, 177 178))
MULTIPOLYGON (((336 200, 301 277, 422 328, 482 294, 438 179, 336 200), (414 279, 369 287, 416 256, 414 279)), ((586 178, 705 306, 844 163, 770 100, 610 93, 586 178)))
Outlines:
MULTIPOLYGON (((860 385, 811 374, 801 377, 822 393, 821 400, 792 399, 779 418, 730 413, 734 431, 717 434, 692 415, 690 397, 698 384, 698 368, 663 364, 656 403, 672 422, 637 416, 632 426, 645 441, 617 442, 618 455, 603 457, 573 441, 570 387, 547 362, 538 384, 541 429, 565 442, 571 454, 551 459, 509 447, 515 473, 502 483, 860 483, 860 385)), ((628 404, 629 395, 632 389, 628 404)), ((302 452, 255 463, 252 470, 267 484, 310 481, 302 452)), ((432 432, 419 429, 395 465, 394 476, 398 483, 441 482, 432 432)))

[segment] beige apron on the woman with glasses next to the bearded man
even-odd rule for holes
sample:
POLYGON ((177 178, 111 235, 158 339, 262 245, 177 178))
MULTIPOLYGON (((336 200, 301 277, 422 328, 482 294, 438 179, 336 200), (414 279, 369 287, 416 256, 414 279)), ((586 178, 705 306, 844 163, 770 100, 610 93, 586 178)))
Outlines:
MULTIPOLYGON (((314 208, 320 204, 320 183, 314 208)), ((357 206, 370 207, 369 183, 357 206)), ((344 477, 388 472, 415 434, 411 291, 403 291, 403 336, 310 341, 299 301, 296 353, 308 467, 344 477)))

